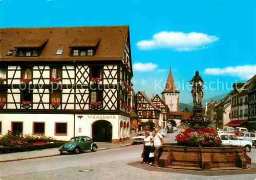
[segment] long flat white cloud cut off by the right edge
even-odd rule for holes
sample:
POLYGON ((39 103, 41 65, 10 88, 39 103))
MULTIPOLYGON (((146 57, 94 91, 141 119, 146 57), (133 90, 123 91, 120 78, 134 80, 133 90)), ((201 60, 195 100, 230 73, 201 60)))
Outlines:
POLYGON ((256 65, 244 65, 236 67, 207 68, 205 74, 238 76, 241 80, 248 80, 256 74, 256 65))

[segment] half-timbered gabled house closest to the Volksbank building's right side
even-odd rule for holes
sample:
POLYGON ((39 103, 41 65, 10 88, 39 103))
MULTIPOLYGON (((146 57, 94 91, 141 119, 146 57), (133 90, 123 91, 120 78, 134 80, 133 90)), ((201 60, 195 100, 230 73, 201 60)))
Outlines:
POLYGON ((152 121, 159 126, 161 110, 147 97, 145 92, 138 91, 136 94, 138 119, 142 122, 152 121))

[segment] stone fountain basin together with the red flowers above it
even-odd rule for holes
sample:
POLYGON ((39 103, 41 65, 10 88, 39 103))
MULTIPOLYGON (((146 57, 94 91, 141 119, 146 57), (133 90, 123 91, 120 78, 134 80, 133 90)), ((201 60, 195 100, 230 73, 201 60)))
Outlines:
POLYGON ((213 128, 187 128, 176 135, 177 144, 164 144, 160 167, 191 170, 247 169, 251 159, 243 146, 223 146, 213 128))

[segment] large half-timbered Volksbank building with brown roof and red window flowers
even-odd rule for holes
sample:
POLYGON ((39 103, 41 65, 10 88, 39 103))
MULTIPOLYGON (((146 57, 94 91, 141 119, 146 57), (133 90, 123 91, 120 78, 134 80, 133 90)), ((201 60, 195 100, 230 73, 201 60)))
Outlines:
POLYGON ((1 133, 129 139, 132 76, 127 25, 2 28, 1 133))

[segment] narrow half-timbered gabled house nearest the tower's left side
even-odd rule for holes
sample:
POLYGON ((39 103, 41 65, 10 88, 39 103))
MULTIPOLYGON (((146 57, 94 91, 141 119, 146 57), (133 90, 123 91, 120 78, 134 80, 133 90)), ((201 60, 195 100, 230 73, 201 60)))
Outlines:
POLYGON ((156 105, 156 107, 158 109, 161 110, 161 114, 160 114, 160 118, 159 118, 159 123, 160 123, 160 126, 165 128, 166 125, 167 125, 167 121, 168 121, 169 108, 168 108, 167 105, 165 105, 164 101, 160 98, 160 96, 158 94, 156 94, 153 97, 152 102, 156 105))

